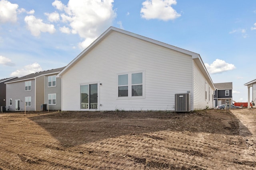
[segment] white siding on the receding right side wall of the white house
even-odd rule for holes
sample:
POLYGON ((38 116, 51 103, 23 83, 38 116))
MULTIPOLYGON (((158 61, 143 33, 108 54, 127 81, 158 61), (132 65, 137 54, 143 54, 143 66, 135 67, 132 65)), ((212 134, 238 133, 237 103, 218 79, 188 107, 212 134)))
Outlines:
POLYGON ((202 72, 194 62, 194 96, 193 96, 193 109, 206 109, 206 106, 209 109, 213 108, 213 91, 211 87, 209 87, 209 82, 206 81, 202 72), (206 98, 205 98, 205 83, 207 84, 206 90, 206 98), (209 88, 210 88, 210 100, 209 100, 209 88))

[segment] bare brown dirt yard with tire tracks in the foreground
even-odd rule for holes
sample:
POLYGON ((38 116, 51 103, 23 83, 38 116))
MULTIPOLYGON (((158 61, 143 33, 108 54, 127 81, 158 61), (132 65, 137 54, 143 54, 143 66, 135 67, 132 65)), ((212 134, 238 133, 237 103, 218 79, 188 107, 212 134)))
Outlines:
POLYGON ((255 168, 256 109, 0 114, 0 170, 255 168))

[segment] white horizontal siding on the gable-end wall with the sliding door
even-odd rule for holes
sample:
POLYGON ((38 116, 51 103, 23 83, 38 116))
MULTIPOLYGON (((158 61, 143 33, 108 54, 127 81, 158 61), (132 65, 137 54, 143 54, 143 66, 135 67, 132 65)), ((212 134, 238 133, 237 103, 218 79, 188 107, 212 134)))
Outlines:
POLYGON ((80 110, 80 85, 98 86, 98 110, 174 110, 175 93, 192 91, 192 57, 112 32, 62 76, 62 110, 80 110), (117 75, 144 73, 144 96, 117 97, 117 75))

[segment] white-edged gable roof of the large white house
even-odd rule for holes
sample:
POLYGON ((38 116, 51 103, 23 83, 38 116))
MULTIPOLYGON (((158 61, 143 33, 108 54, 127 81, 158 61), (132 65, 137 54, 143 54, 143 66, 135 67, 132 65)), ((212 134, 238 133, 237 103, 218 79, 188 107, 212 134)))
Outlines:
POLYGON ((167 43, 163 43, 163 42, 159 42, 157 40, 153 40, 151 38, 147 38, 144 36, 140 36, 138 34, 134 34, 132 32, 128 32, 125 30, 121 30, 119 28, 115 28, 115 27, 110 27, 108 28, 108 30, 106 30, 103 34, 101 34, 94 42, 92 42, 86 49, 84 49, 84 51, 82 51, 76 58, 74 58, 62 71, 60 71, 60 73, 58 73, 57 77, 62 77, 62 75, 68 71, 68 69, 70 69, 73 65, 75 65, 82 57, 84 57, 84 55, 86 55, 89 51, 91 51, 96 45, 98 45, 98 43, 100 43, 104 38, 106 38, 110 33, 112 32, 119 32, 122 34, 125 34, 127 36, 132 36, 134 38, 138 38, 140 40, 144 40, 146 42, 150 42, 150 43, 154 43, 156 45, 160 45, 162 47, 166 47, 168 49, 172 49, 174 51, 178 51, 180 53, 184 53, 186 55, 190 55, 192 57, 192 59, 194 59, 194 61, 196 62, 196 64, 198 65, 198 67, 200 68, 200 70, 202 71, 203 75, 206 77, 207 81, 210 83, 211 87, 213 89, 215 89, 214 87, 214 83, 212 82, 212 79, 208 73, 208 71, 206 70, 206 67, 200 57, 200 55, 198 53, 194 53, 192 51, 188 51, 186 49, 182 49, 173 45, 169 45, 167 43))

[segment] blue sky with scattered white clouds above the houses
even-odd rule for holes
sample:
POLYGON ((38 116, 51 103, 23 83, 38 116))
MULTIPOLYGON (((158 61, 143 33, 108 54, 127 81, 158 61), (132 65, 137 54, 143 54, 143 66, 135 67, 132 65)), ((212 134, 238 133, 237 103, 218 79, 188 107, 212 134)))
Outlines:
POLYGON ((110 26, 199 53, 247 101, 255 0, 0 0, 0 79, 63 67, 110 26))

